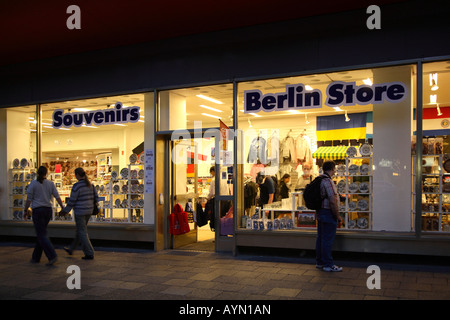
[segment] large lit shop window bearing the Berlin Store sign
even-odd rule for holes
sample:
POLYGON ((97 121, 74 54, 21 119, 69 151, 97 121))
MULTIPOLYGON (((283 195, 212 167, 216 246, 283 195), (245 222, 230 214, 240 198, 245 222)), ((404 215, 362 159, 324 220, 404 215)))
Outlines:
POLYGON ((410 231, 412 71, 398 66, 239 83, 238 226, 315 228, 302 193, 329 159, 337 164, 339 228, 410 231))

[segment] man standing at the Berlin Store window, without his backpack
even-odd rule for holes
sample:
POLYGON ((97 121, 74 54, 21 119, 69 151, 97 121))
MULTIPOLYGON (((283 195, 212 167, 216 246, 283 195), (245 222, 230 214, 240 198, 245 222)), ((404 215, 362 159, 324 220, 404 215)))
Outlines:
POLYGON ((323 174, 320 175, 320 197, 322 203, 316 210, 317 215, 317 239, 316 239, 316 268, 327 272, 342 271, 333 262, 331 249, 336 236, 339 215, 339 195, 336 185, 331 177, 335 174, 334 161, 325 161, 322 166, 323 174))

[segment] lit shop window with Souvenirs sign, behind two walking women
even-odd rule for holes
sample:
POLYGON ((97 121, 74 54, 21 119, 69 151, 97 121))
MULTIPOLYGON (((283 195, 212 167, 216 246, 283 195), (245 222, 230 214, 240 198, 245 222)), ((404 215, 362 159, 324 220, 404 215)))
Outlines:
MULTIPOLYGON (((26 156, 11 154, 12 218, 28 218, 20 214, 20 208, 40 158, 40 165, 48 168, 47 178, 55 183, 64 203, 77 181, 74 170, 81 167, 95 186, 102 208, 100 215, 92 217, 93 221, 144 223, 144 119, 146 105, 152 104, 145 94, 43 104, 41 136, 37 137, 40 150, 34 143, 34 115, 24 115, 27 130, 22 130, 25 129, 22 125, 21 131, 27 139, 23 141, 30 143, 24 149, 26 156), (22 158, 30 158, 25 168, 20 167, 22 158), (19 168, 15 168, 17 161, 19 168), (20 196, 16 196, 20 191, 17 181, 23 181, 20 196)), ((19 113, 22 110, 11 108, 8 112, 19 113)), ((10 145, 10 149, 17 148, 10 145)), ((54 221, 73 220, 73 211, 66 216, 59 215, 60 208, 56 207, 56 201, 53 211, 54 221)))

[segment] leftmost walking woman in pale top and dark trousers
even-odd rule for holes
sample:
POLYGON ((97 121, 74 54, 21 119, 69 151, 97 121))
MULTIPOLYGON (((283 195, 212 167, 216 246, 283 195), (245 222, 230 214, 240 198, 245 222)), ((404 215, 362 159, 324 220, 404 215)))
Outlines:
POLYGON ((63 207, 58 190, 52 181, 47 180, 47 168, 39 167, 36 180, 31 181, 27 190, 25 212, 33 209, 33 225, 36 231, 37 242, 34 247, 31 262, 38 263, 41 260, 42 251, 48 258, 47 265, 53 265, 57 261, 56 251, 47 236, 47 225, 52 218, 52 197, 63 207))

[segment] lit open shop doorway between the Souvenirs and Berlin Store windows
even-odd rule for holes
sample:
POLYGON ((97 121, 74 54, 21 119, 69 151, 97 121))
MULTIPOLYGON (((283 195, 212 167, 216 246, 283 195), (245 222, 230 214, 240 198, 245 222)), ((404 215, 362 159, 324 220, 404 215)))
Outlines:
POLYGON ((215 137, 172 141, 170 134, 157 135, 156 250, 232 251, 231 221, 224 234, 221 218, 232 210, 233 185, 224 174, 229 169, 216 164, 217 144, 215 137), (189 230, 174 234, 170 215, 178 210, 186 212, 189 230))

